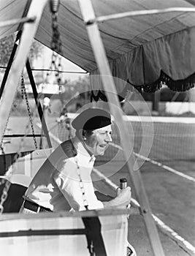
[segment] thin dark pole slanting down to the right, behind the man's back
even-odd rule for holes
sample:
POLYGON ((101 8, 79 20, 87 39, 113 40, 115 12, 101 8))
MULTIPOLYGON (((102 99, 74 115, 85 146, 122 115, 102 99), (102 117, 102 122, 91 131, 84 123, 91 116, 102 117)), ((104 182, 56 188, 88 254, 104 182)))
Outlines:
POLYGON ((30 83, 31 83, 31 87, 32 87, 33 95, 34 95, 34 100, 35 100, 36 105, 37 105, 39 118, 40 118, 41 123, 42 123, 42 129, 43 129, 43 131, 45 133, 45 136, 47 138, 47 144, 48 144, 49 148, 52 148, 52 144, 51 144, 51 141, 50 141, 50 135, 49 135, 49 132, 48 132, 48 129, 47 129, 47 124, 46 124, 46 121, 45 121, 45 117, 43 115, 42 105, 41 105, 41 102, 40 102, 39 97, 38 97, 37 87, 36 87, 36 84, 34 82, 34 77, 33 77, 32 71, 31 71, 31 64, 30 64, 28 59, 26 61, 26 70, 28 72, 28 78, 29 78, 30 83))

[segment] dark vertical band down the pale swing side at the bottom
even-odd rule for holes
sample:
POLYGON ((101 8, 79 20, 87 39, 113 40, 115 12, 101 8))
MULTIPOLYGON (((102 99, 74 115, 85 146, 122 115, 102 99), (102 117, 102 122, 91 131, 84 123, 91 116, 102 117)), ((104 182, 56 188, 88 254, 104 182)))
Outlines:
POLYGON ((107 256, 98 217, 83 217, 90 255, 107 256))

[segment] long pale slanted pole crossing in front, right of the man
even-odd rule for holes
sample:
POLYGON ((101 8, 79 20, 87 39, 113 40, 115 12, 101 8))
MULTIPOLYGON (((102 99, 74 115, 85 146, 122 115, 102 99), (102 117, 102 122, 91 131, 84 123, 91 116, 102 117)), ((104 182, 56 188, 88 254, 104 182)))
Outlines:
POLYGON ((80 4, 81 12, 83 14, 83 19, 85 21, 86 29, 88 31, 88 37, 91 42, 91 47, 93 48, 93 54, 95 56, 96 63, 99 67, 99 72, 102 75, 102 83, 104 86, 104 90, 107 94, 108 102, 110 105, 110 111, 112 115, 115 117, 115 122, 118 125, 121 134, 125 135, 122 136, 121 138, 123 152, 126 157, 127 165, 129 167, 129 174, 131 177, 131 181, 133 183, 134 192, 141 206, 141 214, 145 220, 145 226, 148 232, 153 253, 156 256, 164 256, 164 250, 161 246, 158 231, 152 217, 148 197, 146 195, 145 188, 142 182, 142 177, 139 173, 138 168, 136 167, 136 171, 134 171, 133 168, 135 165, 134 154, 130 154, 129 156, 129 147, 131 147, 131 136, 129 135, 127 127, 125 126, 125 124, 123 124, 123 118, 120 111, 121 106, 118 101, 115 83, 112 78, 112 73, 110 72, 110 66, 107 61, 107 56, 99 33, 99 28, 97 24, 94 22, 96 17, 93 12, 91 0, 78 1, 80 4))

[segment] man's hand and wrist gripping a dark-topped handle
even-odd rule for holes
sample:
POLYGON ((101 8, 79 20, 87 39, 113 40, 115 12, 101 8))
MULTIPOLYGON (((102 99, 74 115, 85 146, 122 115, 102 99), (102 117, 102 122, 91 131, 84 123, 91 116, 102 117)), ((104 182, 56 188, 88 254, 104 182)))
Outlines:
POLYGON ((131 187, 126 187, 126 189, 117 189, 117 196, 110 200, 109 202, 103 202, 104 207, 126 207, 131 201, 131 187))

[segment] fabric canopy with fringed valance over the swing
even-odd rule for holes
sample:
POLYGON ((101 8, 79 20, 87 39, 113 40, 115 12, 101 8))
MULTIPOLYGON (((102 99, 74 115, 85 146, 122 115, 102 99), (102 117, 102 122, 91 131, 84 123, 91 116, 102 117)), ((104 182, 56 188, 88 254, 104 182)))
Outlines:
MULTIPOLYGON (((135 10, 195 7, 194 0, 92 0, 96 17, 135 10)), ((26 0, 0 2, 0 21, 20 18, 26 0)), ((88 34, 76 0, 61 0, 58 24, 62 55, 92 75, 98 74, 88 34)), ((0 28, 0 39, 18 25, 0 28)), ((164 82, 170 89, 185 91, 195 81, 195 12, 139 15, 99 23, 112 75, 156 91, 164 82)), ((35 39, 50 48, 52 38, 49 3, 35 39)))

